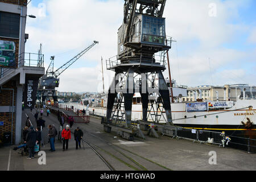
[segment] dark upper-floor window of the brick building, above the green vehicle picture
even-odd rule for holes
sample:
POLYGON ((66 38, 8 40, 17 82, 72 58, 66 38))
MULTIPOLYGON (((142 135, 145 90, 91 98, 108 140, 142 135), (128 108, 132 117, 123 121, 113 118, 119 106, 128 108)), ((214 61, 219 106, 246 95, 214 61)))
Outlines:
POLYGON ((20 15, 0 11, 0 36, 19 38, 20 15))

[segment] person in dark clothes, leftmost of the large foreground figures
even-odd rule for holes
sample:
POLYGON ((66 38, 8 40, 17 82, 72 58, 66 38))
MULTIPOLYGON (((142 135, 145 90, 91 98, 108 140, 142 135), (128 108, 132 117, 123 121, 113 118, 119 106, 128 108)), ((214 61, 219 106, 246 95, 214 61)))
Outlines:
POLYGON ((30 131, 27 134, 26 137, 26 142, 27 143, 27 147, 28 147, 28 154, 29 156, 27 157, 27 159, 32 159, 34 158, 34 154, 35 154, 35 144, 36 144, 36 132, 34 131, 34 128, 31 126, 30 127, 30 131))

